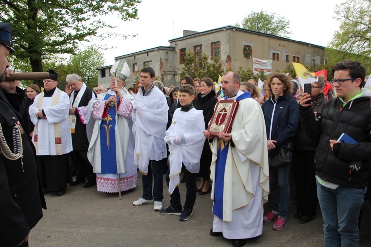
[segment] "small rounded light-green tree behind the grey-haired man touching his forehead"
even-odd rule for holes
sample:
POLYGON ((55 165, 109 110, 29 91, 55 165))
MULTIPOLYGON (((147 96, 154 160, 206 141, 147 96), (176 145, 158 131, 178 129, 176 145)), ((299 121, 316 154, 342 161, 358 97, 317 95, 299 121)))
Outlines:
POLYGON ((90 88, 98 84, 98 71, 96 68, 104 66, 103 52, 99 47, 90 46, 85 50, 72 55, 69 61, 71 73, 76 73, 90 88))

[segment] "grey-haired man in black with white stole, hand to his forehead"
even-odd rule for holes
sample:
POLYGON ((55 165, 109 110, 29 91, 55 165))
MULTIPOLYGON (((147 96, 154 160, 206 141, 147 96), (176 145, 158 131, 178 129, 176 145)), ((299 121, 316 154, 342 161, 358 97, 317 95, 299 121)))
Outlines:
POLYGON ((66 93, 70 95, 69 119, 73 146, 71 156, 77 168, 76 178, 70 184, 74 186, 84 183, 83 187, 89 188, 96 184, 96 174, 93 173, 93 166, 87 157, 89 142, 86 135, 86 122, 83 123, 87 120, 82 120, 80 116, 86 116, 84 112, 88 112, 88 103, 96 98, 96 94, 76 74, 67 75, 66 81, 68 82, 66 93))

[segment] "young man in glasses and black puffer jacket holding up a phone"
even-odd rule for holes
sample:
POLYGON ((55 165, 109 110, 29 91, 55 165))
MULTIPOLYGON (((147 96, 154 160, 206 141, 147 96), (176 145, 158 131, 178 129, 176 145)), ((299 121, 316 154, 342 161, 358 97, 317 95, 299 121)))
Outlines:
POLYGON ((358 217, 371 163, 371 92, 362 88, 366 69, 357 61, 335 64, 332 75, 337 98, 325 103, 316 121, 311 95, 304 93, 300 122, 319 142, 314 161, 324 244, 359 246, 358 217))

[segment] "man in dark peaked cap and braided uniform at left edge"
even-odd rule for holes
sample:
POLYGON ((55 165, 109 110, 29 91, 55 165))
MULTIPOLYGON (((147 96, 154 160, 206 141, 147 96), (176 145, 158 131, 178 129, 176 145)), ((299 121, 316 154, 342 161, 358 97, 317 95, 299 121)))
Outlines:
POLYGON ((0 246, 28 246, 28 234, 43 217, 46 205, 35 151, 20 112, 24 91, 14 81, 4 82, 13 73, 7 61, 15 52, 10 40, 11 24, 0 23, 0 246))

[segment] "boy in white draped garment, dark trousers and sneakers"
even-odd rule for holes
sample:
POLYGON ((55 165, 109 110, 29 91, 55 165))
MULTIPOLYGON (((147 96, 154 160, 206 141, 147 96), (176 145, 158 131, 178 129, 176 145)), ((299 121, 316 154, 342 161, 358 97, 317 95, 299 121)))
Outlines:
POLYGON ((200 158, 205 140, 203 136, 205 124, 202 111, 196 110, 192 104, 195 95, 196 90, 189 84, 179 88, 181 108, 175 110, 172 123, 164 138, 170 151, 170 167, 166 175, 166 182, 171 195, 170 206, 160 210, 160 213, 163 215, 180 215, 180 221, 188 220, 193 214, 197 190, 196 173, 200 170, 200 158), (182 164, 185 167, 183 171, 187 186, 183 211, 178 189, 182 164))

